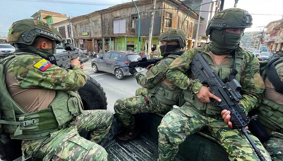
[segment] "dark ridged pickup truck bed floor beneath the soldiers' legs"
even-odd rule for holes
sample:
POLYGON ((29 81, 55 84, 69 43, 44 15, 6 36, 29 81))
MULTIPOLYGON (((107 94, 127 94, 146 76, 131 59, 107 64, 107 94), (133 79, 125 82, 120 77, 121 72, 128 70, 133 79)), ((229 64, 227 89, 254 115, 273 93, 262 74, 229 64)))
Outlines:
MULTIPOLYGON (((115 116, 115 115, 114 115, 115 116)), ((121 132, 122 125, 114 117, 113 128, 104 147, 109 161, 157 161, 158 132, 162 120, 160 114, 137 114, 136 123, 141 128, 140 138, 127 143, 117 142, 114 138, 121 132)), ((193 134, 179 148, 176 161, 227 161, 225 150, 210 136, 206 129, 193 134)))

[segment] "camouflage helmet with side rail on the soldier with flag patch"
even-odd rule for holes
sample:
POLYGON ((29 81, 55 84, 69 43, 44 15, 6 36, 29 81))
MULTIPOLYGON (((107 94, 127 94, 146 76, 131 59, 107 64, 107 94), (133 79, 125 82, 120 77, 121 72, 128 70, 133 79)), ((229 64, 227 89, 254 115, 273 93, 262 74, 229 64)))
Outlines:
POLYGON ((53 26, 33 19, 14 22, 9 29, 7 41, 13 46, 15 43, 30 45, 38 36, 56 41, 56 43, 62 42, 61 34, 53 26))

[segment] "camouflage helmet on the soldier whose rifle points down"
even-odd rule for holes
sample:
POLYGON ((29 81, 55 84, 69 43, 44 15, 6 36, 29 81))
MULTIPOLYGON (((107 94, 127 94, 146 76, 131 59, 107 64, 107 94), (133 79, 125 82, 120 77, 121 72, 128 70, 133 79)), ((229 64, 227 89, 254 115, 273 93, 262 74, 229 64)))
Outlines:
POLYGON ((252 25, 252 16, 240 8, 229 8, 218 12, 208 23, 206 36, 212 29, 247 28, 252 25))

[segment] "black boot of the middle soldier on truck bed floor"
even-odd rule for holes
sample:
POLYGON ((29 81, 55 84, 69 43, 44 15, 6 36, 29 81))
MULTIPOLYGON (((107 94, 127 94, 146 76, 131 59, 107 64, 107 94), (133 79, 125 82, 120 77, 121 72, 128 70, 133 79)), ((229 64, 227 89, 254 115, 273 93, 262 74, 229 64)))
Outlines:
POLYGON ((116 140, 121 142, 132 141, 140 136, 140 129, 137 126, 125 129, 119 135, 117 135, 116 140))

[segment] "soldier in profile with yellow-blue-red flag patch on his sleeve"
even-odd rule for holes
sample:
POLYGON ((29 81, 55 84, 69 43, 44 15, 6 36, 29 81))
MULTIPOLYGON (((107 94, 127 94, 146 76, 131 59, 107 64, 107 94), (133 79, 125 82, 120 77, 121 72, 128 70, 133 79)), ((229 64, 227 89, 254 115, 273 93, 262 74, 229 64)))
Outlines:
POLYGON ((0 100, 0 111, 11 138, 23 140, 23 157, 106 161, 107 152, 99 143, 106 138, 113 115, 82 110, 74 92, 87 81, 79 58, 71 60, 72 69, 67 70, 44 59, 62 42, 61 34, 43 21, 25 19, 12 24, 8 42, 17 50, 5 59, 6 86, 1 89, 8 90, 10 100, 0 100), (79 135, 86 132, 90 141, 79 135))

